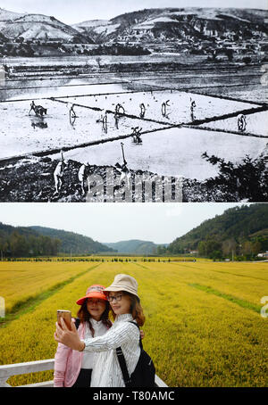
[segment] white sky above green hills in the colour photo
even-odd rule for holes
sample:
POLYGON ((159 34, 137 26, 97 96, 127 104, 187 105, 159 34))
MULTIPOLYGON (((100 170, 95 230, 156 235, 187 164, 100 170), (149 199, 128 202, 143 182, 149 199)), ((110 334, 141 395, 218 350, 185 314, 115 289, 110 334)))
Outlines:
POLYGON ((0 222, 64 229, 102 243, 130 239, 169 244, 239 203, 1 202, 0 222))

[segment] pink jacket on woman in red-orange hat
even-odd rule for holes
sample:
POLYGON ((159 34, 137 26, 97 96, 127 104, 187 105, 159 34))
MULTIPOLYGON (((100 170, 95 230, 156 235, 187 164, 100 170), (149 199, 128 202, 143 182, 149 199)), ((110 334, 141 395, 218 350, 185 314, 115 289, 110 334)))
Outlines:
MULTIPOLYGON (((85 324, 78 328, 80 339, 85 337, 85 324)), ((63 343, 58 343, 54 356, 54 387, 71 387, 80 374, 83 352, 73 351, 63 343)))

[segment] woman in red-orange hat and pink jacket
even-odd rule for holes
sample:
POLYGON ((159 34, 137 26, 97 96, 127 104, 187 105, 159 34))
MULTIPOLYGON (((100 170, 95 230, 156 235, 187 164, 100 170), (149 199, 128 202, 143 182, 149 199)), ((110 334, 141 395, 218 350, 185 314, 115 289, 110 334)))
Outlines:
MULTIPOLYGON (((90 285, 86 295, 76 302, 81 306, 77 313, 79 322, 76 322, 80 339, 105 335, 112 326, 104 290, 103 285, 90 285)), ((54 387, 89 387, 94 363, 94 352, 74 351, 58 343, 54 357, 54 387)))

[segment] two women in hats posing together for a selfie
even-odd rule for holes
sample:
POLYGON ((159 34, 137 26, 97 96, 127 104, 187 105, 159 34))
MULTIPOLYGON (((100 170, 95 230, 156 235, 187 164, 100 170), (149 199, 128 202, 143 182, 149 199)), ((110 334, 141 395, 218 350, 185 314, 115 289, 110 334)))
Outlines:
POLYGON ((119 274, 104 288, 92 285, 78 302, 80 326, 63 319, 56 323, 54 386, 124 387, 116 349, 121 347, 131 375, 140 355, 140 332, 145 316, 135 278, 119 274), (108 304, 113 325, 108 319, 108 304), (61 325, 59 325, 61 323, 61 325), (136 324, 136 325, 135 325, 136 324))

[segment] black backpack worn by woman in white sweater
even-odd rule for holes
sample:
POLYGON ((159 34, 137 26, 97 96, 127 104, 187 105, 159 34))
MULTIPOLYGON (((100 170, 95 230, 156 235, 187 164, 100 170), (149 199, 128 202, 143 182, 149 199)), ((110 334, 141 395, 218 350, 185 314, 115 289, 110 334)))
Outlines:
MULTIPOLYGON (((138 325, 136 322, 130 321, 131 324, 138 325)), ((139 330, 139 327, 138 327, 139 330)), ((129 375, 126 360, 124 358, 121 347, 116 348, 117 358, 121 367, 121 373, 126 387, 155 387, 155 366, 153 360, 143 349, 141 337, 139 337, 140 355, 138 363, 131 374, 129 375)))

